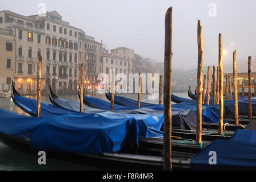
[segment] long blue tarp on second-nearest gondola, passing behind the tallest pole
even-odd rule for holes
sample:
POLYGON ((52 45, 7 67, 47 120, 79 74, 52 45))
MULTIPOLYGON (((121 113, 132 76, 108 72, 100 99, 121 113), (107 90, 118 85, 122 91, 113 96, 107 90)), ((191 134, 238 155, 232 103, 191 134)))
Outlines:
MULTIPOLYGON (((23 109, 24 111, 29 111, 31 115, 36 115, 36 100, 31 98, 26 98, 22 96, 15 96, 14 98, 15 104, 23 109)), ((142 108, 141 108, 142 109, 142 108)), ((121 110, 119 110, 121 111, 121 110)), ((131 111, 131 110, 130 110, 131 111)), ((41 102, 41 117, 51 117, 56 115, 64 115, 64 114, 76 114, 82 115, 84 117, 106 117, 113 119, 127 119, 133 118, 138 123, 139 134, 143 137, 152 137, 151 130, 162 130, 163 125, 163 114, 123 114, 123 113, 113 113, 112 111, 104 111, 99 113, 79 113, 76 111, 71 111, 67 109, 62 109, 58 106, 53 106, 51 104, 47 104, 41 102)), ((195 129, 195 113, 192 110, 176 110, 172 112, 172 127, 173 129, 195 129)), ((158 137, 162 137, 163 135, 158 135, 158 137)))

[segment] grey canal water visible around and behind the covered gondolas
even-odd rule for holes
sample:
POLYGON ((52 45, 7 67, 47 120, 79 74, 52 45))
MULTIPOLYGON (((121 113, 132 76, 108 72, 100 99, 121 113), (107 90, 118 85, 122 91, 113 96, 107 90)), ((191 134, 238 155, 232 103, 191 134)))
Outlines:
MULTIPOLYGON (((177 96, 188 98, 187 93, 174 93, 177 96)), ((129 97, 131 99, 137 100, 137 94, 121 94, 121 96, 129 97)), ((27 96, 28 97, 28 96, 27 96)), ((35 96, 29 96, 34 98, 35 96)), ((79 101, 79 97, 61 95, 61 98, 67 100, 79 101)), ((98 98, 106 100, 105 94, 97 94, 98 98)), ((49 102, 48 96, 42 96, 43 102, 49 102)), ((150 102, 152 104, 158 104, 159 100, 148 100, 147 94, 142 94, 142 102, 150 102)), ((28 115, 19 107, 15 106, 11 98, 0 98, 0 108, 9 111, 14 111, 18 114, 28 115)), ((1 119, 1 116, 0 116, 1 119)), ((74 164, 63 162, 60 160, 47 158, 46 165, 38 164, 38 156, 27 154, 26 152, 14 150, 0 142, 0 171, 2 170, 104 170, 104 168, 94 168, 91 166, 85 166, 81 164, 74 164)))

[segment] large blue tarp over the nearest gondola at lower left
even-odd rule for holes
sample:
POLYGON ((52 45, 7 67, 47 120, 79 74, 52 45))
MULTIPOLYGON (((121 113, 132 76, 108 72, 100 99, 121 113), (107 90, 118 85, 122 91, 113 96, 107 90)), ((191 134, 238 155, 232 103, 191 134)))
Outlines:
POLYGON ((0 132, 30 138, 32 150, 102 154, 117 152, 126 144, 138 144, 134 118, 112 119, 65 114, 26 117, 0 109, 0 132))

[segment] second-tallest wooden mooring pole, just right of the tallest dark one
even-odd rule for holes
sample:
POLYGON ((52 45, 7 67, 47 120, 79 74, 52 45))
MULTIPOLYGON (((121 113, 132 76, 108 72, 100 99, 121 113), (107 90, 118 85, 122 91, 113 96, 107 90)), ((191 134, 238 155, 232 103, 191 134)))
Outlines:
POLYGON ((196 142, 202 142, 202 86, 203 86, 203 31, 200 20, 197 22, 197 44, 198 44, 198 64, 197 64, 197 99, 196 99, 196 142))

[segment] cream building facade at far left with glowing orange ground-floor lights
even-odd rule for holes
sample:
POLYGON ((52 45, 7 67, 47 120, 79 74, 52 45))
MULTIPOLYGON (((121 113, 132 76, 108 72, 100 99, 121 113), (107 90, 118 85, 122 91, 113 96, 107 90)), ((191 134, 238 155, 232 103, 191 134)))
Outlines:
MULTIPOLYGON (((42 44, 44 30, 39 27, 33 18, 19 15, 11 11, 0 11, 0 28, 13 31, 14 35, 14 82, 19 92, 32 93, 36 90, 38 71, 38 54, 45 51, 42 44)), ((2 49, 1 49, 2 50, 2 49)), ((43 61, 42 72, 45 62, 43 61)), ((45 86, 44 77, 42 85, 45 86)))

